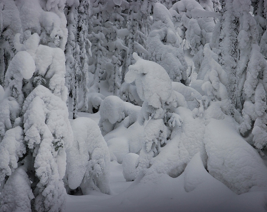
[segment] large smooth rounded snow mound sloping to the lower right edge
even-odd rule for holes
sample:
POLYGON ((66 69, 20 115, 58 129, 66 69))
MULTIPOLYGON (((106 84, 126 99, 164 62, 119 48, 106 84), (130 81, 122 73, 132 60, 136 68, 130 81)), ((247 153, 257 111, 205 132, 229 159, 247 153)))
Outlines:
POLYGON ((209 173, 237 194, 267 187, 266 166, 236 128, 230 118, 212 119, 206 126, 204 143, 209 173))

